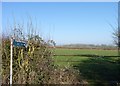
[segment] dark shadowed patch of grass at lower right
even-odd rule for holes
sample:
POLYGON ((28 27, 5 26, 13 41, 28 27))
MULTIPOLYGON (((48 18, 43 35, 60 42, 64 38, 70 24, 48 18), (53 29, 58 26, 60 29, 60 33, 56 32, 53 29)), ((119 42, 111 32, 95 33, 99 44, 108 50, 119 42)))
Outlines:
MULTIPOLYGON (((110 58, 111 59, 111 58, 110 58)), ((110 62, 109 58, 89 58, 74 65, 84 79, 94 84, 115 84, 120 82, 120 64, 110 62)), ((116 86, 116 85, 115 85, 116 86)))

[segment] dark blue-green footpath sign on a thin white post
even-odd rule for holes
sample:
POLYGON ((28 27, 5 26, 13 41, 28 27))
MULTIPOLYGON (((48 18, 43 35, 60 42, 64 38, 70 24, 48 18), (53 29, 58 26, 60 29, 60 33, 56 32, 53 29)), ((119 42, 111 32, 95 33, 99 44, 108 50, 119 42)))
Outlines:
POLYGON ((11 46, 10 46, 10 86, 12 86, 12 62, 13 62, 13 46, 14 47, 26 47, 27 43, 16 41, 15 39, 11 38, 11 46))

